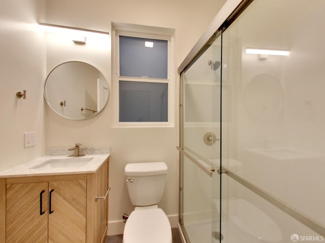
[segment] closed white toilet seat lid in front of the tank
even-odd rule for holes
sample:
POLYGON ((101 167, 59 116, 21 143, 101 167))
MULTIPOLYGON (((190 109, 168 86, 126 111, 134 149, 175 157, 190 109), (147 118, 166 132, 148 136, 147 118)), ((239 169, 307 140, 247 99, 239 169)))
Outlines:
POLYGON ((123 233, 123 243, 172 243, 169 220, 161 209, 133 211, 123 233))

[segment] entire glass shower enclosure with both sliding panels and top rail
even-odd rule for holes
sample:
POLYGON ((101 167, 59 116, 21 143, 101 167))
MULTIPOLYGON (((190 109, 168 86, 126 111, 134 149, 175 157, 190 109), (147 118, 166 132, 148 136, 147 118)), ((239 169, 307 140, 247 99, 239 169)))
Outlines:
POLYGON ((234 9, 178 69, 182 232, 325 241, 325 1, 234 9))

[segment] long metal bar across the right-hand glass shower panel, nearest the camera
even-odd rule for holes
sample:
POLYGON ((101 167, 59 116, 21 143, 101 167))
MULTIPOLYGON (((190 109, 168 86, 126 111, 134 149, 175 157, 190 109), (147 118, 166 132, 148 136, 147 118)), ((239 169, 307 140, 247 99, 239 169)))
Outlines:
POLYGON ((315 231, 319 235, 325 235, 325 226, 321 225, 320 223, 314 221, 313 219, 309 218, 308 216, 304 215, 300 211, 294 209, 293 207, 287 205, 283 201, 279 200, 275 196, 271 195, 270 193, 262 190, 261 188, 255 186, 254 184, 250 183, 249 181, 245 180, 244 178, 238 176, 236 173, 233 173, 232 171, 228 169, 222 169, 222 172, 220 170, 218 171, 219 174, 226 174, 238 183, 242 184, 255 194, 261 196, 265 200, 267 200, 270 204, 277 207, 287 215, 290 215, 303 225, 307 226, 311 230, 315 231))

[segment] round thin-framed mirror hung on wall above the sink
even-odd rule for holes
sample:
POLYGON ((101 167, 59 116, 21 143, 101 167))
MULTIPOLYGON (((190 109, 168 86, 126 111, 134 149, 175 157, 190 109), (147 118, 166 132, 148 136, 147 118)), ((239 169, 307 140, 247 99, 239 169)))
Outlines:
POLYGON ((86 119, 101 112, 109 98, 104 75, 84 62, 66 62, 47 76, 44 96, 49 106, 69 119, 86 119))

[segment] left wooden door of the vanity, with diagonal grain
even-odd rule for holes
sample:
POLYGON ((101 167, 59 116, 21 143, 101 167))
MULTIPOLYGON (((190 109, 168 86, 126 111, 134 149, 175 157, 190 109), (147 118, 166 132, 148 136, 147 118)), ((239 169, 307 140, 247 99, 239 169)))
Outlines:
POLYGON ((47 197, 47 182, 7 185, 6 242, 47 242, 47 197))

